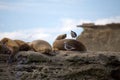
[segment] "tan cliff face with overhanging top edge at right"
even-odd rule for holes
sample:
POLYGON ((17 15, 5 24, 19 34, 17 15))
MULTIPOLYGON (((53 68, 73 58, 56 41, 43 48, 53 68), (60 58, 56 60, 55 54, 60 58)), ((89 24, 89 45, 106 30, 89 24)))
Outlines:
POLYGON ((88 51, 120 51, 120 24, 94 25, 83 24, 84 31, 77 40, 82 42, 88 51))

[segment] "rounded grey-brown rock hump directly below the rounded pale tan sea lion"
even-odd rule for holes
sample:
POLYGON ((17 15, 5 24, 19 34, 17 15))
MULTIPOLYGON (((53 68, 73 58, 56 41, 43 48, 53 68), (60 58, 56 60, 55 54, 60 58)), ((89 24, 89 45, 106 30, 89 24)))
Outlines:
POLYGON ((18 64, 27 64, 30 62, 50 62, 46 55, 34 51, 21 51, 15 55, 18 64))

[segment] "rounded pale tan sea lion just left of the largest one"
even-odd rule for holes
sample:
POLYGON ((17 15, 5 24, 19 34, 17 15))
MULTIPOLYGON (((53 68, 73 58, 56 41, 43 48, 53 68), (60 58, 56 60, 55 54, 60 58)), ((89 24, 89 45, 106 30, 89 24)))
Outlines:
POLYGON ((29 44, 31 48, 36 52, 49 54, 52 51, 51 45, 44 40, 34 40, 29 44))

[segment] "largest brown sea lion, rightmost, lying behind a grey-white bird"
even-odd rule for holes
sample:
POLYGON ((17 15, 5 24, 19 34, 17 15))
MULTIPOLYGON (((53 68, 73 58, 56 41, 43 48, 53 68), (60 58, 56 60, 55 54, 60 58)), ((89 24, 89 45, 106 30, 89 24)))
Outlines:
POLYGON ((67 45, 73 47, 72 49, 69 49, 71 51, 86 51, 86 47, 81 42, 74 39, 55 40, 55 42, 53 43, 53 50, 67 50, 65 48, 66 43, 67 45))

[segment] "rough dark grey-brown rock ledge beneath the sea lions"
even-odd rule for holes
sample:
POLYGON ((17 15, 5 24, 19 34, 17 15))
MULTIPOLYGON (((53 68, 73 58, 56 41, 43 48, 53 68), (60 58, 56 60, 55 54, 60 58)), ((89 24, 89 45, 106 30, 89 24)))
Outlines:
POLYGON ((21 51, 7 64, 0 54, 0 80, 120 80, 119 52, 21 51))

